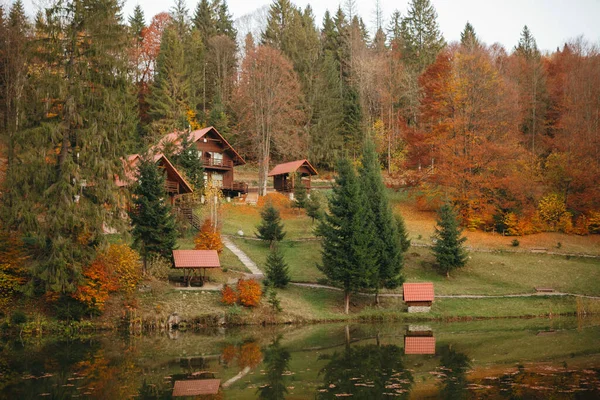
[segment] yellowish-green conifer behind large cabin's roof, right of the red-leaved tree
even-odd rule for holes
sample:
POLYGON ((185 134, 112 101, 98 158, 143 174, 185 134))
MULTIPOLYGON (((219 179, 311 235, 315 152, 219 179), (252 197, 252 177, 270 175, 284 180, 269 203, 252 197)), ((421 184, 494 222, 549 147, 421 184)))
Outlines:
POLYGON ((185 73, 183 45, 172 27, 162 35, 156 75, 148 97, 152 128, 158 134, 188 127, 189 84, 185 73))

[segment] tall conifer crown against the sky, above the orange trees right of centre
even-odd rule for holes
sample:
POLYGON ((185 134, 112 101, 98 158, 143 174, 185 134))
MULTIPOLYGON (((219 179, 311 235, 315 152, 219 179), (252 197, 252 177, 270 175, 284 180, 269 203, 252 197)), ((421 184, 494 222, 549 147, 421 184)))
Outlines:
POLYGON ((429 0, 411 0, 402 20, 404 57, 421 72, 435 61, 446 42, 442 37, 437 13, 429 0))

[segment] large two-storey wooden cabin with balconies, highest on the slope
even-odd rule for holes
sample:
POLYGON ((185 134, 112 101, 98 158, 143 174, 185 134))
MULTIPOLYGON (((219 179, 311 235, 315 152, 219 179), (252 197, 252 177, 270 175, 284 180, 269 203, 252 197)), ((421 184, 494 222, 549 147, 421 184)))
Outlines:
MULTIPOLYGON (((182 132, 169 133, 161 139, 159 147, 164 148, 169 144, 177 146, 181 136, 182 132)), ((198 147, 206 180, 211 180, 215 186, 228 194, 248 192, 246 183, 233 180, 233 168, 246 164, 246 161, 215 128, 210 126, 192 131, 188 138, 198 147)))

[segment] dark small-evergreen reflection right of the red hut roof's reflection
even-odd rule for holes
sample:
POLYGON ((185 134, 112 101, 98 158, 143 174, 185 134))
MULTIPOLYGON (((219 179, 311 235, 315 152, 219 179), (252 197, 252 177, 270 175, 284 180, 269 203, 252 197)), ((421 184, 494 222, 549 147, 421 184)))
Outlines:
POLYGON ((467 390, 467 370, 471 367, 471 361, 464 353, 459 353, 451 346, 444 346, 439 351, 440 360, 440 378, 442 380, 442 390, 440 395, 443 399, 466 399, 467 390))

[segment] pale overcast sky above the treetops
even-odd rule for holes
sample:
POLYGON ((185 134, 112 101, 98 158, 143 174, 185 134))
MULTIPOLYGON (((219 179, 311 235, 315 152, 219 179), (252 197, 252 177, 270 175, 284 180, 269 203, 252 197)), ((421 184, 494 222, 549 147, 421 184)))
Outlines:
MULTIPOLYGON (((28 12, 34 12, 36 4, 47 0, 24 0, 28 12)), ((190 13, 197 0, 186 0, 190 13)), ((10 0, 0 0, 10 3, 10 0)), ((320 26, 325 10, 335 12, 340 0, 297 0, 297 6, 310 3, 320 26)), ((342 3, 345 0, 342 0, 342 3)), ((234 18, 270 4, 270 0, 229 0, 229 10, 234 18)), ((507 50, 519 40, 524 25, 528 25, 541 50, 553 51, 572 38, 584 35, 589 41, 600 42, 600 0, 432 0, 438 13, 441 31, 448 42, 458 40, 467 21, 475 27, 478 36, 487 44, 499 42, 507 50)), ((125 0, 125 15, 140 4, 147 22, 153 15, 168 11, 173 0, 125 0)), ((374 25, 375 0, 356 0, 359 14, 365 23, 374 25)), ((408 0, 380 0, 384 22, 395 9, 403 15, 408 0)))

